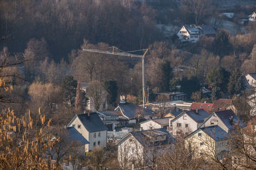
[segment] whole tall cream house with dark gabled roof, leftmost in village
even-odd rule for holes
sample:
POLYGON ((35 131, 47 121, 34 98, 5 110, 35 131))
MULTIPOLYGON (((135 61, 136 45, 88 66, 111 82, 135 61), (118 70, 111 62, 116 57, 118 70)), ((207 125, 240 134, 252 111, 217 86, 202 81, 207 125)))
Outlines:
POLYGON ((85 152, 89 152, 95 147, 106 147, 108 128, 95 112, 76 115, 67 125, 67 129, 72 129, 72 131, 76 129, 88 141, 84 146, 85 152))

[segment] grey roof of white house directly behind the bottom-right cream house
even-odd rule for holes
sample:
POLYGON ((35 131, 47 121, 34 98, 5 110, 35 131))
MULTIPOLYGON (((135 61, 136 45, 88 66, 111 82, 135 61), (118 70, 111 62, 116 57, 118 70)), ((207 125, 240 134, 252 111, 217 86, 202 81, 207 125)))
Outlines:
POLYGON ((189 117, 191 117, 193 120, 195 120, 195 122, 197 123, 202 123, 204 122, 205 118, 209 117, 209 113, 207 113, 207 111, 201 109, 198 110, 198 113, 196 113, 195 110, 191 110, 191 111, 183 111, 182 113, 180 113, 179 116, 175 117, 172 122, 174 122, 175 120, 177 120, 178 118, 182 117, 182 115, 187 114, 189 117))

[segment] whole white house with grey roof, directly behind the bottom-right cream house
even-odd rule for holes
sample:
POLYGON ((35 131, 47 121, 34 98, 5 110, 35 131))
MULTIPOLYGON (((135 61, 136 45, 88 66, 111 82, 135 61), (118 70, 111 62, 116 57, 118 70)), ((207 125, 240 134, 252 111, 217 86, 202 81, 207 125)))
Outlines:
POLYGON ((183 111, 170 120, 170 130, 173 135, 189 134, 198 129, 207 117, 209 117, 209 113, 205 110, 183 111))

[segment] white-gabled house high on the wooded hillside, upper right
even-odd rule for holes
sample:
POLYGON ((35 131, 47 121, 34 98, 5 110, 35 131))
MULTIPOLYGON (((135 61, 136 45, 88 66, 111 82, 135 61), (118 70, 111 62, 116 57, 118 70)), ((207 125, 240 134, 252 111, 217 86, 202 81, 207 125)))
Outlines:
POLYGON ((185 26, 183 26, 177 33, 181 41, 197 41, 200 38, 200 30, 189 32, 185 26))

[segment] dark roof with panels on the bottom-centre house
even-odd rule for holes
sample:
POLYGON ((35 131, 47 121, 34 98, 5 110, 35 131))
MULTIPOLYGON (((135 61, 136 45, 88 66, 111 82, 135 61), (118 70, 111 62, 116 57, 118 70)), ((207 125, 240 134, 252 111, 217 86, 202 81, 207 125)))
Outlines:
POLYGON ((153 130, 147 130, 147 131, 137 131, 137 132, 130 132, 134 138, 136 138, 141 145, 143 146, 161 146, 161 145, 168 145, 173 142, 175 142, 175 138, 166 131, 165 129, 153 129, 153 130), (156 137, 156 136, 162 136, 166 135, 166 140, 164 141, 155 141, 154 143, 150 142, 148 140, 148 136, 156 137))

